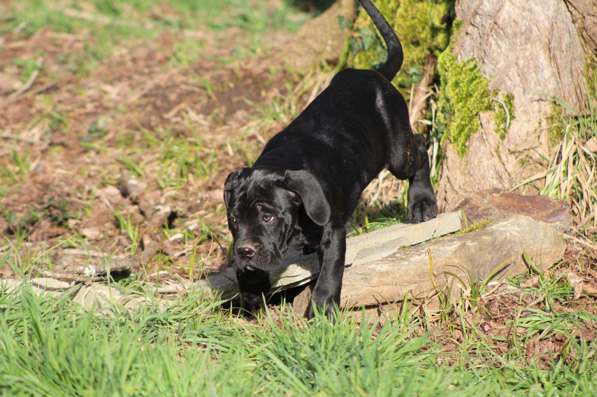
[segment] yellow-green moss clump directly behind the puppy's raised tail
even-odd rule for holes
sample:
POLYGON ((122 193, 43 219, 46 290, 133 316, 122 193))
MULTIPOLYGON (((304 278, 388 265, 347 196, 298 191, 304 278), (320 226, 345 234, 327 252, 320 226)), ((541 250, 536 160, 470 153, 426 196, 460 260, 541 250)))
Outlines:
MULTIPOLYGON (((404 52, 402 70, 392 82, 398 88, 410 88, 413 81, 417 82, 420 67, 427 63, 426 57, 438 56, 449 44, 450 21, 454 17, 454 0, 374 0, 373 2, 398 35, 404 52), (412 66, 419 68, 413 69, 412 66)), ((356 52, 349 66, 369 69, 383 63, 386 50, 373 21, 361 8, 352 29, 355 36, 358 36, 356 33, 362 28, 375 32, 377 40, 365 51, 361 49, 356 52)), ((354 48, 345 48, 345 52, 353 50, 354 48)))

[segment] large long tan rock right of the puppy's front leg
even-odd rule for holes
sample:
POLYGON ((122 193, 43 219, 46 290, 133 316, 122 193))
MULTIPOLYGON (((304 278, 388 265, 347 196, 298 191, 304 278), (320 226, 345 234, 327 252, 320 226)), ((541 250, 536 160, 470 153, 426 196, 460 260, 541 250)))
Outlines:
POLYGON ((517 274, 526 268, 522 253, 539 268, 549 268, 564 256, 566 244, 555 228, 528 216, 514 216, 462 235, 453 235, 401 250, 387 258, 348 268, 344 271, 341 305, 368 306, 415 297, 433 309, 435 288, 430 277, 430 250, 435 284, 439 289, 451 286, 452 299, 460 297, 458 275, 469 284, 469 275, 486 278, 501 263, 508 265, 497 277, 517 274))

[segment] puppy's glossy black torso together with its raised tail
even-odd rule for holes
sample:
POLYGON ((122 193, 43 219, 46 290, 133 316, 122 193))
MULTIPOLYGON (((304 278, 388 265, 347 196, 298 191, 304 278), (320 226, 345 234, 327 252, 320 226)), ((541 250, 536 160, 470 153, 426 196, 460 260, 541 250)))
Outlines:
POLYGON ((407 104, 390 83, 402 66, 402 45, 371 1, 359 2, 386 42, 386 62, 377 70, 338 72, 330 86, 267 142, 254 164, 311 170, 345 218, 361 191, 412 137, 407 104), (289 150, 293 156, 287 155, 289 150))

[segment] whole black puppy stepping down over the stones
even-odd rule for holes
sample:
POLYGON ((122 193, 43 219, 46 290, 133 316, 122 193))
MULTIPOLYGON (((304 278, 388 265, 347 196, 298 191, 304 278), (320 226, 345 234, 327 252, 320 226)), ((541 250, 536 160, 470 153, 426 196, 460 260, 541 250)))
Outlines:
POLYGON ((281 264, 298 238, 318 254, 321 272, 312 300, 331 314, 340 302, 344 224, 384 168, 410 182, 411 221, 438 213, 423 136, 413 135, 407 104, 390 83, 402 65, 402 46, 371 1, 359 2, 386 42, 386 63, 377 70, 338 72, 296 120, 267 142, 253 167, 226 179, 236 277, 251 306, 262 302, 262 293, 270 289, 267 272, 281 264))

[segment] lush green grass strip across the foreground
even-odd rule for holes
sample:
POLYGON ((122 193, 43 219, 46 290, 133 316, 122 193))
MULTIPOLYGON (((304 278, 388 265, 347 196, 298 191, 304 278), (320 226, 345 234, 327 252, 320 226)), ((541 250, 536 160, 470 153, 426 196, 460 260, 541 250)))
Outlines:
MULTIPOLYGON (((126 281, 119 284, 127 288, 126 281)), ((420 320, 409 310, 381 327, 355 320, 334 325, 319 315, 304 322, 270 311, 253 326, 220 303, 195 291, 165 313, 141 309, 130 315, 114 307, 106 318, 80 311, 66 297, 40 298, 27 288, 0 294, 0 391, 7 396, 597 393, 594 341, 570 337, 567 353, 539 369, 534 359, 525 363, 522 348, 496 355, 470 328, 458 352, 442 353, 429 333, 417 335, 420 320), (440 358, 452 364, 446 359, 439 365, 440 358)), ((518 320, 524 331, 514 333, 513 342, 522 344, 564 322, 570 328, 579 318, 563 313, 553 321, 533 310, 518 320)))

